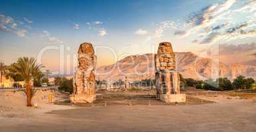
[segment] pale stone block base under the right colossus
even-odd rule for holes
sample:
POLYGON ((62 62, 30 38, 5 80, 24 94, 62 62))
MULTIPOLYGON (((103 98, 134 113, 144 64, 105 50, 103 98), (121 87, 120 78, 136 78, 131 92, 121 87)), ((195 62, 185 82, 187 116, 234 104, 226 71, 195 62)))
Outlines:
POLYGON ((160 94, 160 101, 166 103, 186 102, 186 94, 160 94))

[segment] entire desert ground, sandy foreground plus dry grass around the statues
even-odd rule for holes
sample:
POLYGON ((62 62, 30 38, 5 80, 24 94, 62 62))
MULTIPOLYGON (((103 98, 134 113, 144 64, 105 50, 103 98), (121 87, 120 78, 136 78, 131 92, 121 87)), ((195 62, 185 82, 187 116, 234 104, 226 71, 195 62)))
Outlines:
POLYGON ((94 104, 70 106, 68 94, 39 90, 25 107, 22 92, 0 91, 2 131, 255 131, 256 102, 229 94, 191 94, 191 104, 163 104, 153 91, 99 91, 94 104), (47 95, 53 94, 53 104, 47 95), (131 100, 131 101, 130 101, 131 100), (148 100, 151 100, 150 102, 148 100), (59 104, 59 105, 58 105, 59 104))

